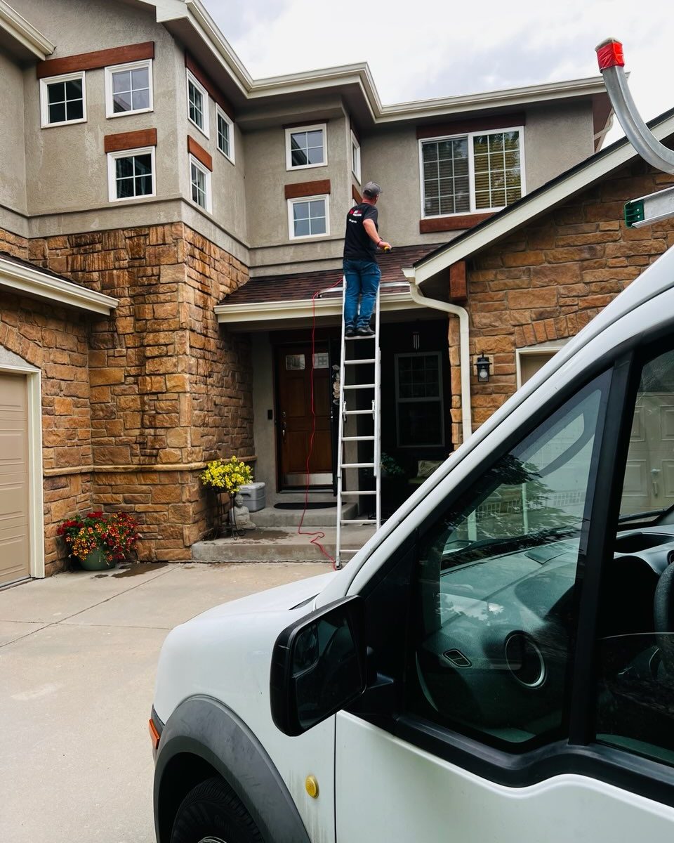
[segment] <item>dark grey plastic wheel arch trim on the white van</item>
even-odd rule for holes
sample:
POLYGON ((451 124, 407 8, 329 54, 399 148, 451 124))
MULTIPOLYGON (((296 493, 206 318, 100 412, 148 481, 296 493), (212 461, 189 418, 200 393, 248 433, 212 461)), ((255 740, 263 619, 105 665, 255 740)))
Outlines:
POLYGON ((268 843, 311 843, 286 783, 249 727, 227 706, 195 695, 163 727, 154 772, 158 843, 169 843, 179 804, 213 775, 222 776, 268 843))

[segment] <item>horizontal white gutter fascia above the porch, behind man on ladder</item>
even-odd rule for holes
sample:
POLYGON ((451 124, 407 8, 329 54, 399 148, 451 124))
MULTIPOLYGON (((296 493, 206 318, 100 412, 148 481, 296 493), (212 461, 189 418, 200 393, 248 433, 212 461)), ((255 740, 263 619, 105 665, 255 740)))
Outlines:
MULTIPOLYGON (((382 293, 380 298, 382 312, 395 310, 416 310, 423 307, 412 301, 409 293, 382 293)), ((221 325, 236 325, 243 322, 270 322, 284 319, 311 319, 314 314, 310 298, 286 302, 258 302, 250 304, 217 304, 217 321, 221 325)), ((317 298, 316 316, 340 316, 342 313, 341 297, 317 298)))

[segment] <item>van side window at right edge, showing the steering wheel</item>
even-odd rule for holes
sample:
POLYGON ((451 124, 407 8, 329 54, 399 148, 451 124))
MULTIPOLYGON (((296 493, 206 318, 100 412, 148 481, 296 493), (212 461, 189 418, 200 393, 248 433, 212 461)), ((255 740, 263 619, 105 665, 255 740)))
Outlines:
POLYGON ((597 740, 674 765, 674 352, 634 400, 618 537, 602 574, 597 740))

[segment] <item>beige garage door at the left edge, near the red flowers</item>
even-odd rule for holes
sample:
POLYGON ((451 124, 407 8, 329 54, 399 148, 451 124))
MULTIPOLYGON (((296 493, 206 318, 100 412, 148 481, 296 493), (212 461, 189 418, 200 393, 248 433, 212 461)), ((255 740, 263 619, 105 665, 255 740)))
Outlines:
POLYGON ((26 379, 0 372, 0 585, 29 572, 26 379))

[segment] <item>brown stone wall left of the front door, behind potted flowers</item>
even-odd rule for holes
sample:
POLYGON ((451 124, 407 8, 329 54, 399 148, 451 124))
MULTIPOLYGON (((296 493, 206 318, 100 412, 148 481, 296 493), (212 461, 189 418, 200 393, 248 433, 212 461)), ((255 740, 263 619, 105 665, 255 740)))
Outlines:
MULTIPOLYGON (((2 237, 0 249, 9 251, 2 237)), ((90 506, 131 511, 142 523, 143 560, 190 559, 209 526, 198 481, 204 462, 253 455, 249 342, 227 334, 213 312, 247 279, 246 267, 182 223, 33 239, 13 254, 120 299, 110 319, 83 316, 81 337, 70 330, 90 407, 90 451, 51 464, 45 442, 45 489, 81 482, 89 497, 64 493, 58 517, 45 497, 48 517, 90 506)), ((57 365, 47 363, 52 347, 30 362, 43 372, 57 365)), ((63 380, 55 375, 51 389, 66 399, 67 372, 58 372, 63 380)), ((48 395, 43 388, 45 414, 48 395)), ((80 409, 59 401, 58 424, 80 409)))

